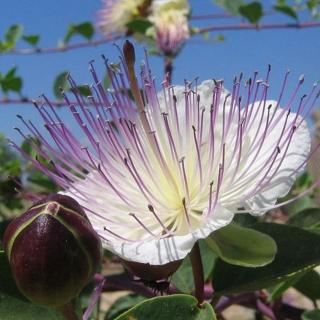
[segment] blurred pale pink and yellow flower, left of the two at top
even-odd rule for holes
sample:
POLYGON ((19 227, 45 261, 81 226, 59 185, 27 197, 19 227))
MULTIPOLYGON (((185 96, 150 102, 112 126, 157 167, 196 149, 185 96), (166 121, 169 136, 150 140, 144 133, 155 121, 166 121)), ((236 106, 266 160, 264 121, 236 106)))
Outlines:
POLYGON ((123 33, 127 30, 127 24, 140 16, 146 2, 148 0, 103 0, 97 26, 106 36, 123 33))

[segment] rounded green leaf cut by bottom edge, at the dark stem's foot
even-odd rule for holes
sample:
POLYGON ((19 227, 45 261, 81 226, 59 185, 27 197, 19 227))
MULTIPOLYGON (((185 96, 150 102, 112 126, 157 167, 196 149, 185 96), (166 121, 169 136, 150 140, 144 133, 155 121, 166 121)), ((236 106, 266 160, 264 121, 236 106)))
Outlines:
POLYGON ((184 294, 156 297, 139 303, 116 320, 215 320, 211 305, 205 302, 201 308, 196 298, 184 294))

